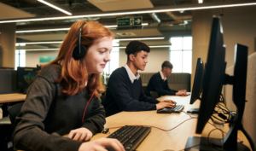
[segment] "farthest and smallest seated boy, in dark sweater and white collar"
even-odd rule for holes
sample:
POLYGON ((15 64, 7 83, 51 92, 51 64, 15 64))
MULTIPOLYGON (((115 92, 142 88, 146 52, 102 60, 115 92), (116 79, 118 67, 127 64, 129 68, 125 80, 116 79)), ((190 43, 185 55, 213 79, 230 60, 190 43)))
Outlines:
POLYGON ((148 81, 146 95, 150 95, 150 91, 156 91, 158 96, 176 95, 187 96, 187 90, 172 90, 169 88, 167 76, 171 76, 172 63, 164 61, 162 64, 162 70, 159 73, 155 73, 148 81))

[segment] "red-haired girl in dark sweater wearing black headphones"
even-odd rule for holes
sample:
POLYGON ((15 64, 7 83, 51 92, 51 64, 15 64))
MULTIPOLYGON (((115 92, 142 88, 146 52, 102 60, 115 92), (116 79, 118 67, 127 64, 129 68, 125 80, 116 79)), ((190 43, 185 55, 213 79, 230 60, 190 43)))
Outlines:
POLYGON ((125 150, 115 139, 86 142, 106 123, 99 99, 105 90, 100 73, 110 61, 113 34, 97 21, 84 23, 73 24, 57 58, 44 66, 30 85, 15 120, 15 148, 84 151, 111 146, 125 150), (73 57, 73 50, 78 46, 80 30, 80 44, 86 51, 78 59, 73 57), (68 138, 63 136, 66 134, 68 138))

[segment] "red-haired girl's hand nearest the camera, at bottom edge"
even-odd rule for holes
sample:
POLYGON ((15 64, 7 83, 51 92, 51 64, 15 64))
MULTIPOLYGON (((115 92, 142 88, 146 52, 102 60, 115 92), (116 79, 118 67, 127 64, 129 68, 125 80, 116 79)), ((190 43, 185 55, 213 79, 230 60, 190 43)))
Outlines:
POLYGON ((105 147, 110 146, 116 151, 125 151, 124 146, 113 138, 100 138, 91 142, 84 142, 79 147, 79 151, 107 151, 105 147))

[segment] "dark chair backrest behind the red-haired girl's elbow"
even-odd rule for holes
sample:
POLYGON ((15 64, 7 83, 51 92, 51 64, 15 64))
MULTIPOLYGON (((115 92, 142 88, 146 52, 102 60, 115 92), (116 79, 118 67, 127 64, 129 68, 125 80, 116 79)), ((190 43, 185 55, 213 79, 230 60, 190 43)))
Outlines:
POLYGON ((15 131, 15 127, 16 127, 15 119, 16 119, 16 116, 18 115, 18 113, 20 113, 20 109, 21 109, 23 103, 24 102, 20 102, 18 104, 15 104, 12 107, 9 107, 9 109, 8 109, 9 119, 11 121, 11 125, 12 125, 14 131, 15 131))

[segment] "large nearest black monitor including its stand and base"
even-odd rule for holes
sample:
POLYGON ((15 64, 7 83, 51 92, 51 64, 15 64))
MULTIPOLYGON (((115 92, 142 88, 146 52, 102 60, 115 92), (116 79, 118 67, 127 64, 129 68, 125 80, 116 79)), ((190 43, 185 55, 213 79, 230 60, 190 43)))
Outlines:
POLYGON ((219 18, 213 18, 212 32, 207 56, 206 75, 203 84, 200 113, 196 133, 201 134, 211 118, 219 92, 223 84, 233 84, 233 102, 237 107, 236 120, 231 123, 230 131, 224 139, 189 136, 186 149, 200 150, 249 150, 242 143, 237 143, 237 131, 242 129, 241 118, 245 106, 245 90, 247 77, 247 47, 238 44, 235 50, 234 77, 224 73, 225 48, 219 18))

